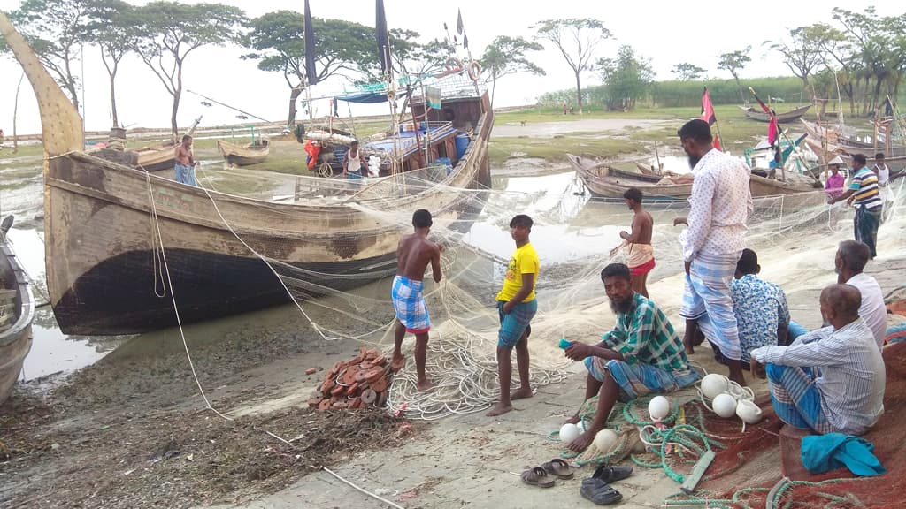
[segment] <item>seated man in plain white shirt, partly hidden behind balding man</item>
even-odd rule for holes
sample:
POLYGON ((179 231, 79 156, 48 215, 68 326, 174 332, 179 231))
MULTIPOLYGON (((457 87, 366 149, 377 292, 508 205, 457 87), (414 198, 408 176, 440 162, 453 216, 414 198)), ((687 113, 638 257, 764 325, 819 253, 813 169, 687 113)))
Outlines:
MULTIPOLYGON (((870 256, 868 245, 854 240, 844 240, 837 248, 837 255, 834 257, 834 271, 837 273, 838 284, 851 284, 862 295, 859 316, 872 330, 874 341, 880 349, 883 347, 884 335, 887 332, 887 308, 884 307, 881 285, 872 276, 862 272, 865 264, 868 264, 870 256)), ((825 335, 830 333, 830 329, 827 327, 824 328, 824 331, 825 335)), ((789 332, 790 339, 795 340, 806 330, 798 323, 790 322, 789 332)))

